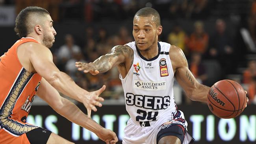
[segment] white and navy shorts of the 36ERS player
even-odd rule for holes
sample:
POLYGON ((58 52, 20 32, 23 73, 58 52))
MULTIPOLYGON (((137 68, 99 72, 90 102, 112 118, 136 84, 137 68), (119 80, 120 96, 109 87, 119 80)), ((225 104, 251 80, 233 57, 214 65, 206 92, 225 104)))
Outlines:
POLYGON ((140 122, 140 125, 128 120, 122 144, 158 144, 165 136, 176 136, 182 144, 193 143, 194 138, 187 132, 187 122, 182 111, 163 116, 157 121, 140 122))

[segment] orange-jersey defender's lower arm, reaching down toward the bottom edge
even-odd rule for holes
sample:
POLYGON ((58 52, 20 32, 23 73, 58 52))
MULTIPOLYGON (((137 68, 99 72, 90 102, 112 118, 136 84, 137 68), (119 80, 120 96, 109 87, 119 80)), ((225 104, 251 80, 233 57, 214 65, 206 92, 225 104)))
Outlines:
POLYGON ((37 95, 45 100, 52 109, 54 109, 54 111, 61 114, 71 122, 92 131, 105 142, 115 143, 118 141, 117 136, 113 131, 105 129, 91 118, 88 118, 74 103, 61 97, 59 92, 44 78, 41 80, 41 84, 37 90, 37 95))

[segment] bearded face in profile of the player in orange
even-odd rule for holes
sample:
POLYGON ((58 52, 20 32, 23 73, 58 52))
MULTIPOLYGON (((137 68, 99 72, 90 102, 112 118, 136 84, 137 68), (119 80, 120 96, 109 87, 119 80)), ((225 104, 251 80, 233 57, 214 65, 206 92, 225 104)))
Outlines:
POLYGON ((44 31, 43 31, 43 44, 47 48, 51 48, 53 43, 55 42, 55 35, 57 34, 53 28, 53 20, 50 15, 46 16, 46 20, 44 23, 44 31))

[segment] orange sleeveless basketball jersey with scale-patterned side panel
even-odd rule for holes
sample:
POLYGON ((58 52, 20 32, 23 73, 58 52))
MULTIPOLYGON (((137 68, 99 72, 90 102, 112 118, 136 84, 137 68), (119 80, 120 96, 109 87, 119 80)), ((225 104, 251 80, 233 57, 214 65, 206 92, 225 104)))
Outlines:
POLYGON ((25 42, 37 41, 32 38, 22 38, 0 57, 0 135, 2 136, 7 132, 19 137, 37 128, 27 124, 26 118, 42 77, 28 72, 20 64, 17 47, 25 42))

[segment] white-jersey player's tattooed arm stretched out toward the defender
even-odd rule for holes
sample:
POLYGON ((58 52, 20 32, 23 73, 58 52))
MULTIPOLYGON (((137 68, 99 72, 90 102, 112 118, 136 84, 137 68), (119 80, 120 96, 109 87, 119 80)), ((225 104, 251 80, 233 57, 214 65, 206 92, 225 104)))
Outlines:
POLYGON ((96 75, 99 72, 107 72, 113 66, 126 66, 126 61, 133 60, 131 55, 133 56, 133 51, 129 46, 118 45, 112 48, 110 54, 100 56, 93 63, 76 62, 76 67, 85 73, 96 75))

